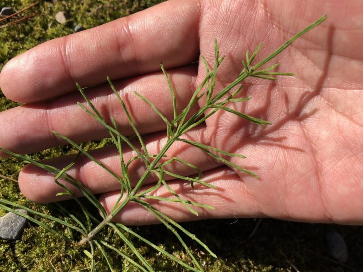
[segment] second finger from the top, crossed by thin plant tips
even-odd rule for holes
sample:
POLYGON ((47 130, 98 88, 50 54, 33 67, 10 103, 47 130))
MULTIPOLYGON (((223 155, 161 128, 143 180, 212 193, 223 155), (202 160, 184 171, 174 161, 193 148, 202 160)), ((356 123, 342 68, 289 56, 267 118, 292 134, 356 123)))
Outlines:
MULTIPOLYGON (((181 67, 168 73, 174 85, 178 111, 181 111, 189 102, 194 90, 196 66, 181 67)), ((135 95, 135 90, 151 101, 165 117, 173 119, 172 96, 162 72, 115 81, 114 85, 141 134, 161 131, 166 125, 146 102, 135 95)), ((86 89, 85 92, 108 124, 113 117, 123 135, 133 134, 125 111, 108 84, 86 89)), ((83 105, 87 104, 79 93, 72 93, 58 99, 25 104, 1 112, 0 128, 6 130, 0 130, 0 146, 15 153, 25 154, 66 144, 51 131, 67 136, 75 142, 108 137, 108 131, 79 107, 77 101, 83 105)), ((196 107, 192 108, 190 113, 194 113, 196 107)), ((0 152, 1 155, 4 154, 0 152)))

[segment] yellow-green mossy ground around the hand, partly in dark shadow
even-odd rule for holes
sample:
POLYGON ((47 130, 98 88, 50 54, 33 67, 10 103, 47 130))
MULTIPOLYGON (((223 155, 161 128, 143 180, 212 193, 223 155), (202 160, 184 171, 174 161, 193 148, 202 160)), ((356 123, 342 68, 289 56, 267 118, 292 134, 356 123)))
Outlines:
MULTIPOLYGON (((26 11, 27 15, 39 14, 33 20, 0 29, 0 69, 9 59, 39 43, 73 33, 76 24, 91 28, 161 1, 58 0, 54 4, 53 1, 42 0, 38 6, 26 11), (54 15, 58 11, 67 11, 70 14, 70 19, 65 25, 55 22, 54 15)), ((1 0, 1 6, 12 6, 15 10, 20 10, 33 2, 33 0, 1 0)), ((0 92, 0 111, 16 105, 16 103, 7 100, 0 92)), ((102 140, 88 143, 86 148, 92 149, 106 144, 108 141, 102 140)), ((32 157, 45 159, 74 152, 73 148, 63 146, 32 154, 32 157)), ((0 173, 16 179, 23 165, 23 162, 16 159, 0 159, 0 173)), ((20 203, 59 218, 64 216, 56 209, 55 205, 35 205, 29 202, 20 194, 16 183, 1 178, 0 198, 20 203)), ((64 207, 70 214, 81 217, 80 211, 73 201, 65 202, 64 207)), ((87 207, 91 209, 91 207, 87 207)), ((0 209, 0 216, 4 214, 5 211, 0 209)), ((71 220, 69 216, 67 219, 71 220)), ((44 219, 41 220, 46 222, 44 219)), ((339 231, 346 240, 349 250, 347 265, 357 269, 363 267, 361 227, 303 224, 265 219, 252 239, 246 241, 256 226, 256 221, 245 219, 230 224, 232 221, 205 220, 183 224, 190 232, 205 241, 211 250, 218 255, 218 259, 214 259, 201 250, 195 242, 186 239, 191 251, 206 271, 291 272, 295 271, 293 266, 300 271, 349 271, 349 268, 325 259, 326 257, 329 258, 325 236, 332 228, 339 231)), ((53 225, 55 229, 71 237, 71 233, 67 229, 53 225)), ((183 261, 190 261, 177 239, 173 234, 165 231, 163 226, 143 226, 133 229, 168 252, 180 257, 183 261)), ((132 256, 130 249, 120 241, 120 238, 114 236, 112 231, 104 231, 99 236, 120 248, 128 256, 132 256)), ((80 239, 77 235, 73 238, 74 241, 80 239)), ((141 244, 135 238, 131 236, 128 238, 135 243, 139 252, 147 258, 155 270, 184 271, 174 262, 141 244)), ((71 240, 66 241, 59 235, 54 235, 33 223, 28 223, 20 240, 7 242, 0 239, 0 271, 46 272, 56 270, 61 272, 80 269, 88 271, 89 269, 86 268, 90 266, 90 259, 83 250, 82 246, 71 240)), ((127 260, 121 260, 112 252, 108 251, 108 253, 116 271, 138 271, 127 260)), ((99 251, 96 252, 95 258, 97 271, 106 271, 107 264, 99 251)))

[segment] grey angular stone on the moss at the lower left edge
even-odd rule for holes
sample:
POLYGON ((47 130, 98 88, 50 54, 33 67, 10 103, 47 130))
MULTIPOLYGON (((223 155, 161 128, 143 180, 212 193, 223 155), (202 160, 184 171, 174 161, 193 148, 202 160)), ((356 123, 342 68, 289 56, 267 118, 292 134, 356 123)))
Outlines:
MULTIPOLYGON (((27 214, 25 210, 16 210, 27 214)), ((27 219, 20 215, 9 212, 0 217, 0 237, 5 240, 15 240, 19 238, 25 228, 27 219)))

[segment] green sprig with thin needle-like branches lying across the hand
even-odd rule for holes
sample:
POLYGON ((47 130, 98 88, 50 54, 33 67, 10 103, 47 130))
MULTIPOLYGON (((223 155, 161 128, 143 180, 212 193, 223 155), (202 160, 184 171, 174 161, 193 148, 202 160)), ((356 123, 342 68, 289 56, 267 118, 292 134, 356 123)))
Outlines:
MULTIPOLYGON (((112 82, 108 78, 109 84, 114 91, 116 97, 118 98, 122 108, 124 109, 129 123, 131 127, 134 130, 135 136, 138 138, 139 143, 141 145, 141 150, 139 150, 128 137, 123 136, 117 127, 117 124, 113 118, 111 118, 111 123, 108 124, 105 119, 102 117, 102 115, 99 113, 99 111, 95 108, 95 106, 91 103, 91 101, 87 98, 84 90, 77 84, 77 87, 86 100, 89 108, 85 107, 81 103, 78 103, 80 107, 82 107, 88 114, 90 114, 95 120, 97 120, 99 123, 101 123, 109 132, 111 140, 113 144, 115 144, 119 156, 120 156, 120 163, 121 163, 121 169, 122 173, 119 175, 118 173, 114 173, 112 170, 110 170, 108 167, 106 167, 102 162, 96 160, 88 151, 84 149, 82 145, 78 145, 75 142, 73 142, 71 139, 67 138, 66 136, 63 136, 57 132, 53 132, 55 135, 63 138, 66 140, 70 145, 72 145, 75 149, 78 150, 78 155, 76 156, 75 160, 64 167, 63 169, 57 169, 56 167, 46 165, 44 163, 35 161, 31 157, 25 155, 19 155, 15 154, 13 152, 4 150, 0 148, 1 151, 8 153, 9 155, 16 157, 18 159, 24 160, 25 162, 34 164, 42 169, 45 169, 48 172, 51 172, 55 175, 55 182, 61 186, 64 189, 64 192, 58 193, 58 195, 70 195, 79 205, 80 209, 82 210, 84 214, 84 218, 77 218, 74 215, 68 214, 68 216, 72 219, 72 221, 68 221, 65 218, 60 219, 51 215, 47 215, 41 212, 37 212, 35 210, 29 209, 23 205, 5 200, 0 199, 0 208, 12 211, 16 214, 19 214, 21 216, 24 216, 28 218, 30 221, 32 221, 35 224, 38 224, 45 229, 49 230, 50 232, 62 236, 66 240, 74 240, 77 239, 78 236, 81 236, 82 239, 80 240, 80 244, 88 244, 89 248, 85 249, 84 252, 86 255, 88 255, 91 258, 91 271, 95 270, 95 252, 97 249, 99 249, 99 252, 103 256, 104 260, 106 261, 110 271, 114 271, 114 268, 112 266, 112 262, 110 261, 108 251, 113 251, 114 253, 120 255, 124 259, 128 260, 131 264, 133 264, 136 268, 140 269, 141 271, 153 271, 153 268, 148 263, 148 261, 142 256, 141 253, 136 249, 134 244, 131 242, 131 240, 128 238, 129 235, 135 236, 140 241, 144 242, 146 245, 150 246, 151 248, 159 251, 161 254, 166 255, 168 258, 173 260, 174 262, 180 264, 182 267, 184 267, 187 270, 190 271, 203 271, 202 266, 198 263, 196 257, 192 254, 189 247, 183 240, 183 238, 180 235, 180 232, 184 235, 190 237, 191 239, 195 240, 200 244, 201 247, 203 247, 211 256, 216 257, 216 255, 202 242, 200 241, 195 235, 187 231, 185 228, 183 228, 180 224, 174 222, 172 219, 167 217, 165 214, 154 208, 152 205, 150 205, 146 199, 154 199, 157 201, 173 201, 178 202, 184 205, 184 207, 189 210, 191 213, 198 215, 197 212, 193 209, 193 206, 203 207, 205 209, 213 209, 213 207, 207 205, 207 204, 201 204, 201 203, 195 203, 189 200, 182 199, 172 188, 170 188, 167 184, 167 182, 164 180, 164 175, 170 175, 176 178, 184 179, 186 181, 190 182, 190 186, 194 187, 195 183, 199 183, 201 186, 207 186, 207 187, 214 187, 213 185, 210 185, 208 183, 205 183, 202 181, 202 172, 194 165, 188 163, 187 161, 181 160, 178 157, 167 157, 167 160, 165 160, 165 154, 167 150, 170 148, 170 146, 175 141, 182 141, 187 144, 193 145, 195 147, 198 147, 202 149, 204 152, 206 152, 208 155, 212 156, 214 159, 222 161, 226 165, 233 167, 235 169, 238 169, 240 171, 243 171, 249 175, 252 175, 256 178, 258 176, 254 174, 253 172, 244 169, 238 165, 235 165, 228 160, 225 160, 223 156, 230 156, 230 157, 240 157, 245 158, 243 155, 228 153, 223 150, 220 150, 218 148, 200 144, 197 142, 193 142, 190 140, 182 139, 181 136, 185 134, 186 132, 193 129, 195 126, 201 124, 206 119, 208 119, 210 116, 215 114, 219 110, 224 110, 231 112, 241 118, 244 118, 250 122, 253 122, 260 126, 266 126, 270 124, 268 121, 261 120, 240 112, 237 112, 233 110, 232 108, 226 106, 228 103, 244 103, 250 99, 250 97, 247 98, 235 98, 236 95, 242 90, 243 85, 242 82, 247 77, 257 77, 262 79, 268 79, 268 80, 276 80, 277 75, 285 75, 285 76, 292 76, 293 73, 284 73, 284 72, 274 72, 274 70, 279 66, 279 64, 271 65, 267 68, 260 69, 263 65, 265 65, 267 62, 272 60, 275 56, 277 56, 279 53, 281 53, 284 49, 286 49, 293 41, 298 39, 300 36, 311 30, 312 28, 316 27, 320 23, 322 23, 326 19, 326 16, 321 17, 319 20, 311 24, 306 29, 302 30, 295 36, 293 36, 290 40, 288 40, 284 45, 282 45, 280 48, 278 48, 276 51, 274 51, 271 55, 269 55, 267 58, 262 60, 261 62, 254 64, 253 61, 258 53, 258 51, 261 48, 261 44, 258 45, 256 50, 250 55, 250 53, 246 52, 246 59, 242 61, 243 69, 238 75, 238 77, 230 83, 227 87, 225 87, 222 91, 215 93, 214 87, 215 87, 215 79, 217 75, 217 69, 222 63, 224 57, 219 57, 219 46, 217 44, 217 41, 215 40, 215 61, 212 68, 209 68, 209 64, 207 61, 201 57, 202 61, 205 64, 206 67, 206 76, 204 81, 201 83, 201 85, 195 90, 193 93, 188 105, 180 112, 177 112, 176 107, 176 98, 175 98, 175 92, 173 89, 173 84, 165 71, 163 65, 161 65, 161 69, 163 73, 166 76, 166 79, 169 84, 170 92, 172 94, 172 104, 173 104, 173 112, 174 112, 174 118, 173 120, 169 121, 163 114, 145 97, 140 95, 138 92, 135 91, 135 94, 140 97, 145 103, 147 103, 159 116, 160 118, 165 122, 166 130, 167 130, 167 142, 162 147, 159 154, 149 154, 148 150, 144 144, 143 138, 138 132, 130 113, 128 112, 124 102, 122 101, 119 93, 113 86, 112 82), (205 104, 202 106, 196 113, 194 113, 191 117, 188 117, 189 112, 194 104, 196 104, 201 98, 205 99, 205 104), (129 161, 124 160, 123 156, 123 145, 128 145, 131 149, 133 149, 137 156, 133 157, 129 161), (74 164, 75 161, 78 159, 80 155, 84 155, 88 157, 93 162, 97 163, 99 166, 103 167, 108 173, 110 173, 114 178, 116 178, 120 183, 120 189, 121 194, 120 198, 116 202, 115 206, 113 207, 111 213, 107 215, 105 209, 103 206, 99 203, 97 197, 82 183, 77 181, 72 176, 68 175, 66 172, 68 169, 70 169, 74 164), (163 159, 163 160, 162 160, 163 159), (130 163, 135 160, 141 160, 146 167, 146 171, 141 176, 137 184, 132 187, 130 182, 130 177, 128 174, 128 168, 130 166, 130 163), (170 171, 167 171, 164 167, 174 161, 177 161, 181 164, 184 164, 190 168, 192 168, 198 176, 195 178, 192 177, 184 177, 177 175, 175 173, 172 173, 170 171), (151 186, 149 189, 141 191, 142 185, 145 183, 145 180, 147 177, 151 174, 155 174, 158 177, 158 182, 151 186), (89 203, 94 206, 103 216, 103 219, 100 220, 97 217, 93 216, 91 211, 89 210, 89 207, 87 207, 82 201, 80 201, 73 192, 71 192, 66 186, 61 184, 58 180, 63 179, 70 184, 76 186, 85 196, 85 198, 89 201, 89 203), (165 197, 159 197, 154 196, 151 193, 158 189, 160 186, 165 186, 167 190, 174 196, 174 198, 165 198, 165 197), (122 195, 125 194, 124 198, 121 198, 122 195), (154 217, 156 217, 162 224, 166 226, 167 229, 169 229, 180 241, 181 245, 184 247, 186 253, 189 255, 190 259, 192 260, 193 265, 183 262, 174 255, 168 253, 165 251, 162 247, 150 242, 149 240, 145 239, 144 237, 137 234, 135 231, 129 229, 123 224, 119 223, 113 223, 112 220, 115 217, 116 214, 118 214, 128 203, 131 201, 138 203, 142 207, 144 207, 149 213, 151 213, 154 217), (15 209, 25 209, 27 210, 32 216, 21 214, 15 209), (52 224, 45 224, 43 220, 38 220, 37 218, 42 218, 49 220, 52 224), (57 231, 53 226, 54 223, 58 223, 62 226, 65 226, 67 231, 66 233, 61 233, 60 231, 57 231), (103 237, 98 236, 97 234, 103 230, 104 228, 111 228, 114 233, 127 245, 135 257, 138 259, 139 262, 136 262, 133 258, 130 256, 127 256, 124 254, 120 249, 112 246, 110 243, 107 242, 107 240, 103 237)), ((61 204, 57 204, 58 209, 64 213, 67 214, 67 211, 62 207, 61 204)))

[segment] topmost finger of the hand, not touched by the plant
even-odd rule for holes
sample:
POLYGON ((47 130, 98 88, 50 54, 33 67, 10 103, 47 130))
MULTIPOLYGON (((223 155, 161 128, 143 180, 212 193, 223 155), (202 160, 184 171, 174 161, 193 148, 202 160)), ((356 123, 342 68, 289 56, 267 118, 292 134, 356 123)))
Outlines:
POLYGON ((178 67, 197 59, 196 0, 170 0, 110 23, 57 38, 15 57, 2 69, 9 99, 30 103, 111 79, 178 67))

